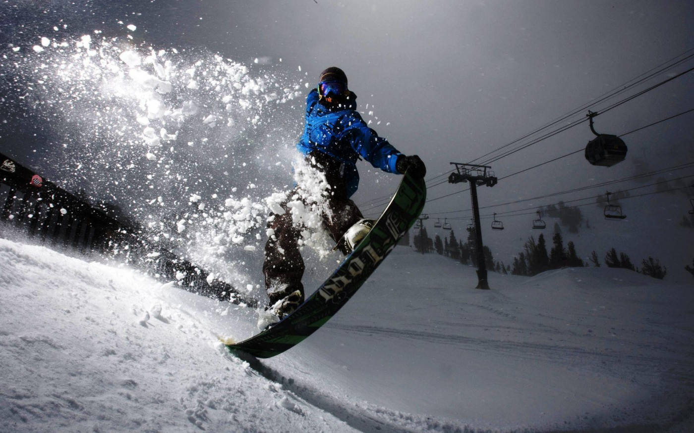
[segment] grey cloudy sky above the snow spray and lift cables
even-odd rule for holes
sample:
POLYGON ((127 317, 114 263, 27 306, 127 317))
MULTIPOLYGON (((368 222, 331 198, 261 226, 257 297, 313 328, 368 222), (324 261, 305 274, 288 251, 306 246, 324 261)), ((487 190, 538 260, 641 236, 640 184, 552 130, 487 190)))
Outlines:
MULTIPOLYGON (((694 66, 688 60, 602 105, 586 105, 694 53, 688 51, 694 48, 691 1, 54 0, 8 1, 1 8, 4 46, 35 44, 58 21, 67 24, 61 32, 75 37, 95 29, 123 35, 125 23, 137 26, 135 42, 205 48, 291 80, 315 80, 325 67, 339 66, 360 109, 373 112, 372 126, 402 152, 420 154, 428 178, 450 170, 450 161, 484 161, 484 154, 573 109, 586 106, 554 128, 694 66)), ((694 108, 692 77, 598 116, 595 129, 623 134, 694 108)), ((590 166, 579 153, 487 188, 481 200, 504 202, 626 177, 639 170, 636 157, 648 159, 650 168, 694 159, 693 117, 685 114, 625 137, 629 157, 613 168, 590 166)), ((297 107, 297 136, 302 126, 297 107)), ((493 170, 498 177, 515 173, 579 150, 592 136, 583 123, 495 161, 493 170)), ((20 149, 3 139, 2 146, 31 159, 30 149, 40 143, 20 149)), ((373 169, 367 173, 369 168, 361 166, 364 180, 355 195, 365 208, 397 182, 373 169)), ((430 188, 429 197, 459 189, 443 183, 430 188)), ((462 209, 468 200, 467 194, 445 197, 425 211, 462 209)))

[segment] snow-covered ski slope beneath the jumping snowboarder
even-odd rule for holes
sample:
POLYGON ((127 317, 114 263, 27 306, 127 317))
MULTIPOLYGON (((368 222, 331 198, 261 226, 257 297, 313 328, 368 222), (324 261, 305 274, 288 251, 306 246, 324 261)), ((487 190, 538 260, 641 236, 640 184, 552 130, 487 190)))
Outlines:
POLYGON ((218 337, 251 335, 253 310, 3 239, 0 269, 3 431, 693 427, 693 287, 624 269, 480 291, 473 268, 400 247, 321 330, 252 365, 218 337))

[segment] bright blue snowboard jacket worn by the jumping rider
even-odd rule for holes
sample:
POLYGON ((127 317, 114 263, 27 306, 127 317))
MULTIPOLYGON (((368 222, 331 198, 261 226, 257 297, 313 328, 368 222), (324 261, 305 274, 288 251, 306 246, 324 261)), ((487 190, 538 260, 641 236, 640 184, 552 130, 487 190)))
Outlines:
POLYGON ((319 103, 318 91, 306 97, 306 124, 296 149, 303 154, 323 152, 344 164, 347 197, 359 187, 357 159, 362 157, 375 168, 398 173, 396 161, 400 152, 372 130, 356 111, 357 96, 350 93, 346 107, 328 109, 319 103))

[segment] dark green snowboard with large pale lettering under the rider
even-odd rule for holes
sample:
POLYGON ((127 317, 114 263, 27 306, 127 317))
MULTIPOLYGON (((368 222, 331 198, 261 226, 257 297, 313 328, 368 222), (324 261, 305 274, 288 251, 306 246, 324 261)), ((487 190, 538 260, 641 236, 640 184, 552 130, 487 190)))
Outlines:
POLYGON ((393 250, 421 213, 426 200, 424 179, 408 173, 385 211, 337 270, 291 315, 262 333, 236 344, 231 353, 268 358, 287 351, 323 326, 359 290, 393 250))

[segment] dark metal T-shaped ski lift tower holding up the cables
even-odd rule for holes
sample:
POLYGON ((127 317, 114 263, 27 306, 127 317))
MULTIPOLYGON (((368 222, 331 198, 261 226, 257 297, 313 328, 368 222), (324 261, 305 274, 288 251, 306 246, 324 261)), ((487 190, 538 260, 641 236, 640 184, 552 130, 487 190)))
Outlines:
POLYGON ((450 173, 448 183, 470 181, 470 195, 473 201, 473 215, 475 215, 475 246, 477 249, 477 289, 489 290, 486 279, 486 263, 484 263, 484 251, 482 250, 482 226, 480 225, 480 206, 477 204, 477 186, 494 186, 498 179, 490 166, 478 166, 477 164, 462 164, 452 162, 457 173, 450 173))

